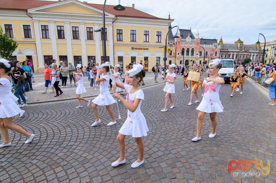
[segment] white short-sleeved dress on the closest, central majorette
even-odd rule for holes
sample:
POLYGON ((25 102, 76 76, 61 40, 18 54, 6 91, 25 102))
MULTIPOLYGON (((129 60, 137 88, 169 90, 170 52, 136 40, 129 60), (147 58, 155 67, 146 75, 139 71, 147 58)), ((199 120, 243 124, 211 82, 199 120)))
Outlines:
POLYGON ((126 101, 133 105, 135 98, 139 98, 140 102, 133 113, 130 110, 127 110, 127 119, 119 130, 119 133, 122 135, 132 135, 132 137, 147 136, 149 129, 147 127, 146 119, 140 109, 141 103, 144 100, 144 93, 139 89, 131 94, 129 93, 131 88, 131 85, 124 85, 124 89, 127 92, 126 101))

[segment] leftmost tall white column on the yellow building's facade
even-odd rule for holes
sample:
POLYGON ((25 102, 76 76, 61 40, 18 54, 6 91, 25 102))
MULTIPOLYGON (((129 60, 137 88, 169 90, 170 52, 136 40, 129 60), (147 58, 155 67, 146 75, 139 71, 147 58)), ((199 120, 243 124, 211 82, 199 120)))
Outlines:
POLYGON ((38 20, 33 20, 32 22, 34 24, 34 39, 35 39, 35 46, 37 49, 37 61, 39 65, 38 68, 44 68, 38 20))

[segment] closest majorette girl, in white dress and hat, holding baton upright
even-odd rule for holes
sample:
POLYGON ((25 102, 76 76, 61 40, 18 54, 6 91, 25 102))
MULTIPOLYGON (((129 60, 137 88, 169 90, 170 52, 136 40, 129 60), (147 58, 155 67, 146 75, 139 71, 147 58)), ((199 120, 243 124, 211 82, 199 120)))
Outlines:
POLYGON ((141 103, 144 100, 144 93, 140 89, 139 84, 141 83, 143 77, 145 77, 145 70, 143 70, 142 65, 135 64, 133 65, 133 69, 131 69, 128 74, 129 85, 117 82, 114 82, 112 85, 114 97, 121 99, 128 111, 127 119, 119 130, 119 134, 117 136, 120 148, 120 158, 113 162, 111 166, 116 167, 126 162, 124 156, 124 138, 127 135, 131 135, 135 138, 135 142, 137 143, 139 150, 139 158, 131 165, 132 168, 136 168, 144 163, 144 146, 142 136, 147 136, 147 132, 149 131, 145 117, 140 109, 141 103), (116 92, 116 87, 124 88, 126 90, 126 100, 124 100, 124 98, 116 92))

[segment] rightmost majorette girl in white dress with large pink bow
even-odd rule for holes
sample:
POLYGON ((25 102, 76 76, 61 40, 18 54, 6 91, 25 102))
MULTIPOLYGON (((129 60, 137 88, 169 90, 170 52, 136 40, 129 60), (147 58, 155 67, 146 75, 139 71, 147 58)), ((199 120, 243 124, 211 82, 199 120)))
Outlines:
MULTIPOLYGON (((208 78, 199 79, 202 84, 202 88, 205 89, 204 96, 199 106, 196 108, 198 110, 198 120, 196 123, 196 137, 192 141, 197 141, 201 139, 201 129, 202 121, 206 113, 210 113, 210 119, 212 124, 212 131, 209 134, 209 138, 216 136, 216 113, 223 112, 223 106, 219 100, 219 89, 221 85, 224 84, 224 79, 218 76, 218 71, 222 68, 220 59, 214 59, 209 64, 209 74, 208 78)), ((201 87, 199 87, 200 89, 201 87)))

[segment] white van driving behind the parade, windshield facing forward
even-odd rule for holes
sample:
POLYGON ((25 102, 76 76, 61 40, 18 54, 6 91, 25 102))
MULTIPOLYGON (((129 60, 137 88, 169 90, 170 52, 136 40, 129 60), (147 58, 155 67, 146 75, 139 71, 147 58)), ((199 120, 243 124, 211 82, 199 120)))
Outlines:
POLYGON ((221 59, 222 68, 218 71, 221 74, 221 78, 226 82, 230 82, 230 77, 234 73, 234 60, 233 59, 221 59))

